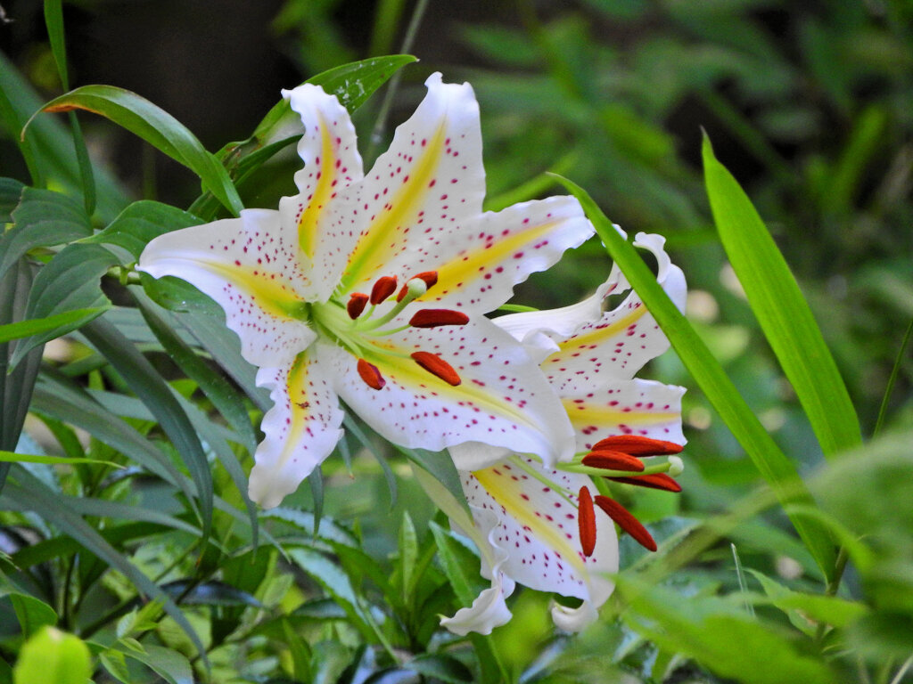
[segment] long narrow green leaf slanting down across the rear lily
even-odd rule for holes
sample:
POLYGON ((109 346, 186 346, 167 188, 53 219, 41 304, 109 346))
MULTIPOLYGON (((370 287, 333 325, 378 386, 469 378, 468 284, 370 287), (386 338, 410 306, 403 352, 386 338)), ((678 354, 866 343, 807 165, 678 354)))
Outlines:
MULTIPOLYGON (((757 466, 780 503, 784 506, 791 503, 814 506, 812 495, 796 471, 795 465, 777 447, 771 435, 761 425, 761 421, 741 398, 719 362, 713 358, 707 345, 698 337, 663 288, 656 283, 656 276, 646 267, 634 246, 624 240, 599 206, 580 186, 567 179, 559 180, 580 200, 583 211, 593 222, 606 250, 656 318, 678 358, 714 409, 717 409, 729 430, 732 430, 742 448, 749 454, 751 461, 757 466)), ((834 574, 835 559, 831 535, 821 523, 806 516, 791 515, 790 520, 813 555, 815 563, 821 568, 824 576, 830 578, 834 574)))

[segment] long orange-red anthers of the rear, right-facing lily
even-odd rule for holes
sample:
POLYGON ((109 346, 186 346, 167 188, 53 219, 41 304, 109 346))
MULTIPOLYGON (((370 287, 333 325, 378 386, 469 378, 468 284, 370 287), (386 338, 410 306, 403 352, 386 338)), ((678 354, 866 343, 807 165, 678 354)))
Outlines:
MULTIPOLYGON (((589 468, 631 473, 624 477, 607 475, 607 480, 651 489, 661 489, 666 492, 681 492, 682 488, 678 482, 666 475, 665 472, 648 475, 636 474, 643 472, 645 468, 644 461, 641 461, 640 457, 669 456, 680 451, 682 451, 682 447, 671 441, 651 440, 646 437, 636 437, 635 435, 615 435, 593 444, 593 450, 584 456, 581 462, 589 468)), ((615 523, 618 523, 618 526, 624 532, 630 534, 638 544, 650 551, 656 551, 656 542, 653 539, 653 535, 647 532, 644 525, 628 512, 621 503, 602 494, 598 494, 593 499, 590 490, 583 486, 580 488, 577 502, 577 522, 580 526, 580 542, 583 554, 592 555, 596 546, 596 513, 593 509, 593 503, 599 506, 615 523)))

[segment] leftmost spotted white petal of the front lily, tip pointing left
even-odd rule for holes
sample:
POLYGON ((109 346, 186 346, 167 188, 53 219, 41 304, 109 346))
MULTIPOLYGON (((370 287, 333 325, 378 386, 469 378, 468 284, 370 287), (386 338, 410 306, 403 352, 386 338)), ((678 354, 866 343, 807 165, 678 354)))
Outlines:
POLYGON ((278 212, 246 209, 236 219, 206 223, 150 242, 137 270, 195 285, 226 312, 241 354, 257 366, 289 363, 316 335, 293 317, 310 281, 301 272, 278 212))

